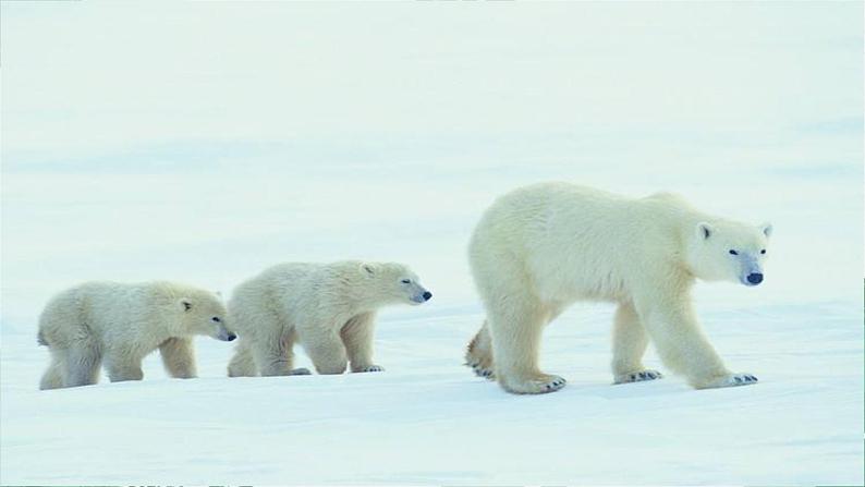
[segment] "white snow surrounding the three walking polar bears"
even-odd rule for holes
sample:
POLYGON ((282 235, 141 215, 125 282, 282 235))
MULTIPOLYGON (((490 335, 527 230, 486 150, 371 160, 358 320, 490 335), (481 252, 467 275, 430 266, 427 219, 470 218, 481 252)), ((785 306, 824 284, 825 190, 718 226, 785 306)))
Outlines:
POLYGON ((863 484, 862 9, 4 2, 0 484, 863 484), (540 180, 771 221, 764 284, 695 295, 760 382, 612 386, 592 303, 545 334, 560 392, 461 366, 471 229, 540 180), (435 294, 383 373, 229 379, 203 338, 195 380, 37 390, 66 285, 341 258, 435 294))

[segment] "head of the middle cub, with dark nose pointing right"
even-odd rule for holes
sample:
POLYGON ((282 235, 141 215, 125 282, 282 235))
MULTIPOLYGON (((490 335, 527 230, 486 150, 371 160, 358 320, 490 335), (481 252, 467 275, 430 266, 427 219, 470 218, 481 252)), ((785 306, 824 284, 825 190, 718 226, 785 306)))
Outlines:
POLYGON ((402 264, 364 263, 360 270, 374 294, 370 297, 382 304, 418 305, 432 297, 432 293, 421 285, 417 275, 402 264))

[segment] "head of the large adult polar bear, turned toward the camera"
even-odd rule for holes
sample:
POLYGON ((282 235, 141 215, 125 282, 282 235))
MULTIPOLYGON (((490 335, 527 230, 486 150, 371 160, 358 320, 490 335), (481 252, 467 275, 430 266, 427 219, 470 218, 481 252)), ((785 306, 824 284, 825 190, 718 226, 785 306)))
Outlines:
POLYGON ((706 281, 757 285, 763 282, 763 263, 771 233, 769 223, 697 223, 687 245, 687 266, 694 276, 706 281))

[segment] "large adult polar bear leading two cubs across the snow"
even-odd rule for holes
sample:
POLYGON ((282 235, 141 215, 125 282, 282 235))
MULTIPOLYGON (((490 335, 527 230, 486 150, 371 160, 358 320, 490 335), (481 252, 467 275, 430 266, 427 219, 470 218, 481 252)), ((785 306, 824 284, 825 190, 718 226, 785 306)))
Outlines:
POLYGON ((487 320, 466 361, 508 391, 564 387, 538 369, 541 330, 578 300, 619 304, 614 381, 659 378, 646 370, 650 337, 663 363, 695 388, 756 382, 732 374, 704 337, 692 308, 695 279, 763 281, 771 227, 697 211, 668 193, 632 199, 566 183, 515 190, 487 209, 470 244, 487 320))

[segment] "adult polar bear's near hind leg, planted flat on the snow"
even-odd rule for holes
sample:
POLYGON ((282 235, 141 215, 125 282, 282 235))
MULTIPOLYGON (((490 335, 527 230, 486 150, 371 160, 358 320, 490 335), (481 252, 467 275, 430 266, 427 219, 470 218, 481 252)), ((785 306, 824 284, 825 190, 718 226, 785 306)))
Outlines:
POLYGON ((532 296, 502 296, 488 306, 496 378, 509 392, 540 394, 564 387, 559 376, 538 369, 538 352, 550 309, 532 296))

